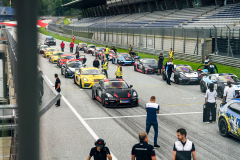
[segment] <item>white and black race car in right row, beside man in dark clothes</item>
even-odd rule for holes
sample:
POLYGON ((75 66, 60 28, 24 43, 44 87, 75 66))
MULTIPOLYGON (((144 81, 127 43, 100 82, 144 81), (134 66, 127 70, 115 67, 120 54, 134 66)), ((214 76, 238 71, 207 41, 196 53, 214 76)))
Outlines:
MULTIPOLYGON (((171 81, 176 84, 199 84, 201 76, 197 71, 194 71, 191 66, 186 64, 174 65, 174 72, 172 72, 171 81)), ((163 80, 167 79, 165 67, 163 67, 163 80)))

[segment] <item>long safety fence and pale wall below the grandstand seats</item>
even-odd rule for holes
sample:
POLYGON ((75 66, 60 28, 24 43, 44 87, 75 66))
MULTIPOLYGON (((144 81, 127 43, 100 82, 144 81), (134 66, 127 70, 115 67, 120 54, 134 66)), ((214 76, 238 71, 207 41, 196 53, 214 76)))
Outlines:
MULTIPOLYGON (((184 29, 184 28, 96 28, 75 27, 50 24, 49 30, 55 34, 99 44, 129 49, 131 44, 136 52, 168 56, 170 48, 174 51, 174 59, 203 62, 205 55, 209 55, 213 62, 238 67, 240 54, 217 52, 226 45, 231 51, 232 43, 216 43, 212 29, 184 29), (229 47, 230 46, 230 47, 229 47), (233 58, 236 57, 236 58, 233 58), (232 61, 236 63, 232 63, 232 61)), ((219 39, 217 39, 218 41, 219 39)), ((219 40, 220 41, 220 40, 219 40)), ((231 41, 233 41, 231 39, 231 41)))

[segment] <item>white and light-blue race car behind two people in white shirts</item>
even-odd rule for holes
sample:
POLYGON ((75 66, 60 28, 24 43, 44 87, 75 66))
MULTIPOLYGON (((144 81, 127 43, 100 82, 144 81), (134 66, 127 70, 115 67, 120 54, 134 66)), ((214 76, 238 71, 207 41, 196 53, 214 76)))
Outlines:
POLYGON ((232 87, 235 89, 236 94, 240 91, 240 80, 232 73, 217 73, 204 76, 200 81, 201 92, 206 92, 208 85, 214 83, 214 89, 217 90, 217 96, 222 98, 224 88, 227 86, 227 81, 232 82, 232 87))

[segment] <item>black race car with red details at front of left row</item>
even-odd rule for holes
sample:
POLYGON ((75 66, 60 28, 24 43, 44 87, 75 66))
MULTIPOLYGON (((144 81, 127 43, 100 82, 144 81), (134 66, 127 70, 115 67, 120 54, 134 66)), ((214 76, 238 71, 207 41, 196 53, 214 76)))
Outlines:
POLYGON ((92 98, 104 107, 138 106, 137 91, 122 79, 104 79, 92 87, 92 98))

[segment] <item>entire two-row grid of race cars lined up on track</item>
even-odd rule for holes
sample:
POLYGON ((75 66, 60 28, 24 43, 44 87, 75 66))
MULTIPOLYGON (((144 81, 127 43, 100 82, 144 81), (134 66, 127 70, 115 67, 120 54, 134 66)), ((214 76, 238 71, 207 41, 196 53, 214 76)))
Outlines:
MULTIPOLYGON (((37 46, 38 53, 48 58, 49 62, 56 63, 61 68, 61 74, 65 78, 73 78, 73 83, 80 88, 92 88, 92 99, 99 101, 104 107, 130 107, 138 106, 138 94, 132 85, 128 85, 123 79, 107 79, 104 73, 98 68, 86 67, 84 63, 86 55, 76 59, 73 54, 64 54, 54 47, 54 43, 46 43, 48 39, 55 42, 54 38, 47 36, 45 44, 37 46)), ((55 43, 56 44, 56 43, 55 43)), ((96 47, 93 44, 79 43, 76 47, 91 56, 99 58, 105 56, 105 47, 96 47)), ((132 65, 136 72, 143 74, 154 74, 158 71, 158 62, 154 58, 142 58, 135 54, 118 53, 109 51, 109 60, 113 64, 132 65)), ((200 67, 199 67, 200 68, 200 67)), ((163 67, 162 79, 166 80, 167 75, 163 67)), ((223 97, 227 81, 231 81, 235 89, 235 99, 221 106, 217 111, 219 133, 222 136, 232 135, 240 138, 240 80, 232 73, 208 74, 206 69, 194 71, 186 64, 174 65, 174 73, 171 81, 176 84, 199 84, 200 91, 206 92, 210 83, 214 84, 219 98, 223 97)))

